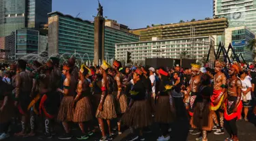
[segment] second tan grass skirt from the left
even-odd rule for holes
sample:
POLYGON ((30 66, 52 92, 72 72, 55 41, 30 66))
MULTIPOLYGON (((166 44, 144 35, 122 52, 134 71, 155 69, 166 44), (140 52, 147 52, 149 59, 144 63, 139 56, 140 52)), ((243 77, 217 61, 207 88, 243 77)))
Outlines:
POLYGON ((73 122, 81 123, 90 121, 92 119, 92 107, 88 97, 83 97, 76 103, 76 110, 74 111, 73 122))

